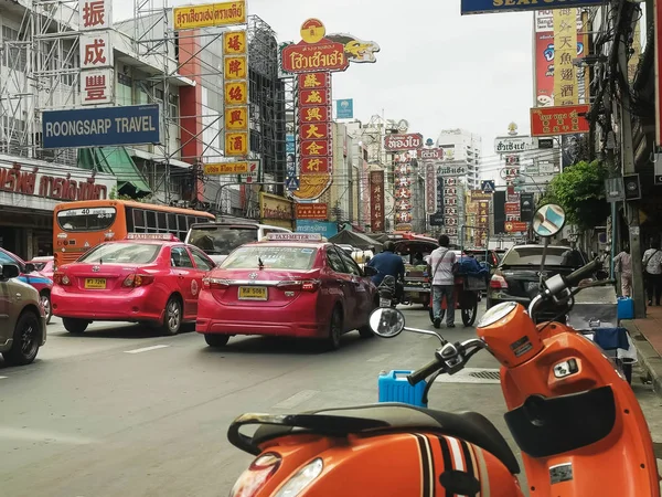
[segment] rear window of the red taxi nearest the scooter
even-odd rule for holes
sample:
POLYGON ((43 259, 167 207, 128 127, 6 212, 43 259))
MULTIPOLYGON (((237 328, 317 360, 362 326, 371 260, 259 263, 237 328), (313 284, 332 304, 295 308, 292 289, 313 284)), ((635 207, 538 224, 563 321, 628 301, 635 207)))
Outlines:
POLYGON ((298 246, 243 246, 223 261, 223 269, 265 269, 308 271, 312 267, 318 250, 298 246))

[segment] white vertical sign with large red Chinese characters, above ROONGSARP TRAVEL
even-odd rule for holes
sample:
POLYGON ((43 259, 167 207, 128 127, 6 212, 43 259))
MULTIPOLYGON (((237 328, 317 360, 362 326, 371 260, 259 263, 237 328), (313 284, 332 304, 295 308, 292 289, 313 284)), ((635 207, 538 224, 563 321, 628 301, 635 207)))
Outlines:
POLYGON ((113 0, 81 0, 81 104, 113 103, 113 0))

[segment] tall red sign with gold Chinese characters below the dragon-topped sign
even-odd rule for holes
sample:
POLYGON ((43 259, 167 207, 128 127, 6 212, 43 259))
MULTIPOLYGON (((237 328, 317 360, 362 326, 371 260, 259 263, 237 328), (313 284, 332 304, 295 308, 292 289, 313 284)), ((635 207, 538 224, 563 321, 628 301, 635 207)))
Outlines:
POLYGON ((331 74, 307 73, 297 77, 300 200, 318 199, 330 186, 333 172, 331 74))

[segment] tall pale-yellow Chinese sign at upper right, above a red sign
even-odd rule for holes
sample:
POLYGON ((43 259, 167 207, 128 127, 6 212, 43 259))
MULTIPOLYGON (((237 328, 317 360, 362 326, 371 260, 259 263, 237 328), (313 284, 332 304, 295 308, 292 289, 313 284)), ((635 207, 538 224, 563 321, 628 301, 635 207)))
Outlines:
POLYGON ((577 71, 577 10, 554 9, 554 105, 579 103, 577 71))

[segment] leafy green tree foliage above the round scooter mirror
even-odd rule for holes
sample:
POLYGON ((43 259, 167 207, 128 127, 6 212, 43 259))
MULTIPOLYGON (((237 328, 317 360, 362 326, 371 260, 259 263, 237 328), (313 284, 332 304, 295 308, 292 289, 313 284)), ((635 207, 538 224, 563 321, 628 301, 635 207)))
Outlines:
POLYGON ((580 230, 604 224, 609 215, 605 195, 607 168, 599 161, 579 161, 566 168, 548 186, 542 203, 558 203, 567 221, 580 230))

